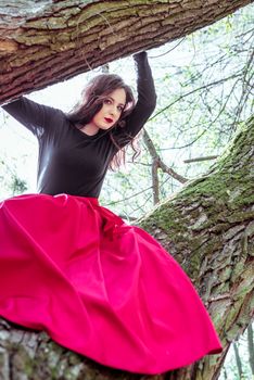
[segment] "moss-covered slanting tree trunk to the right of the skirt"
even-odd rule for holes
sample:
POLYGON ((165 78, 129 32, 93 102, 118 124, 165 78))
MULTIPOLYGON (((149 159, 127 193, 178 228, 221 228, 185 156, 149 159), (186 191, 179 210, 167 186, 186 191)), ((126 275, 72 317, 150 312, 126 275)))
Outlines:
POLYGON ((211 172, 140 220, 181 264, 224 345, 219 356, 167 379, 216 380, 230 343, 254 312, 254 118, 211 172))

